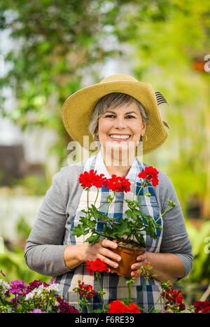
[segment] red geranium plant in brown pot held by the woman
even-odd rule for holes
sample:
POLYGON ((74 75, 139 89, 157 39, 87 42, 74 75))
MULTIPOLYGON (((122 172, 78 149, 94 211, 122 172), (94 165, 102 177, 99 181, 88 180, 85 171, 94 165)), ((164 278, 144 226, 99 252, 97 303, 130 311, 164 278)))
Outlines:
POLYGON ((90 172, 80 174, 79 183, 85 190, 87 190, 87 209, 83 209, 85 216, 80 216, 79 224, 73 227, 73 235, 80 237, 81 235, 90 234, 85 242, 90 244, 96 243, 99 239, 111 239, 118 244, 118 248, 113 250, 118 253, 122 260, 118 268, 112 268, 111 272, 116 272, 120 276, 130 276, 131 265, 136 262, 136 258, 142 251, 146 250, 146 243, 144 234, 146 233, 153 239, 157 239, 156 230, 162 229, 158 223, 160 218, 167 212, 170 207, 175 204, 167 199, 169 205, 161 216, 154 220, 151 216, 146 215, 142 211, 141 200, 144 196, 150 197, 151 194, 144 192, 144 195, 139 200, 139 194, 142 188, 152 183, 153 186, 158 185, 158 171, 153 167, 146 167, 145 170, 138 175, 139 181, 141 179, 141 188, 135 200, 124 199, 127 203, 127 210, 125 211, 126 218, 109 217, 108 209, 116 197, 116 192, 129 192, 130 181, 125 179, 125 176, 112 175, 111 179, 104 178, 104 174, 97 174, 93 169, 90 172), (89 205, 89 190, 94 186, 97 188, 96 199, 94 204, 89 205), (97 197, 99 195, 99 188, 108 188, 113 191, 113 196, 109 195, 100 207, 96 207, 97 197), (106 211, 102 212, 100 209, 106 204, 106 211), (102 231, 97 230, 97 223, 102 222, 104 228, 102 231), (122 270, 123 269, 123 270, 122 270))

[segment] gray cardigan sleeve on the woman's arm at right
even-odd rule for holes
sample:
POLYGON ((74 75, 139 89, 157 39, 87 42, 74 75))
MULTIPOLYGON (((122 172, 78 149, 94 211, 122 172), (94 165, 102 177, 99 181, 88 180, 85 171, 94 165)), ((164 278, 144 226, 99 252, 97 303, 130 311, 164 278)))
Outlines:
POLYGON ((174 253, 182 261, 186 273, 185 278, 193 267, 192 244, 188 237, 181 204, 174 190, 172 181, 159 171, 159 185, 154 188, 157 202, 162 214, 168 207, 167 199, 175 202, 176 207, 170 207, 163 216, 163 233, 160 252, 174 253))

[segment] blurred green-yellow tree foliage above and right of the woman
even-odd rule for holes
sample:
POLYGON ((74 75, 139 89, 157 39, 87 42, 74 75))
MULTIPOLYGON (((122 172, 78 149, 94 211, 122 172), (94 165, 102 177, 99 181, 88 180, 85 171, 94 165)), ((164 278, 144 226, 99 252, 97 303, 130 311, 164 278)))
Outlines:
MULTIPOLYGON (((210 74, 197 70, 196 62, 210 53, 209 1, 0 0, 0 29, 10 31, 15 44, 4 55, 10 69, 0 78, 1 116, 22 130, 54 130, 50 153, 59 167, 66 165, 70 141, 62 104, 87 86, 85 77, 99 82, 106 77, 104 64, 120 58, 125 71, 130 67, 132 76, 162 92, 169 103, 160 107, 169 139, 144 161, 169 175, 186 216, 193 199, 200 200, 203 238, 189 228, 195 255, 203 253, 210 235, 210 74), (17 99, 13 110, 5 109, 5 88, 17 99)), ((209 280, 207 252, 200 267, 194 280, 209 280)))

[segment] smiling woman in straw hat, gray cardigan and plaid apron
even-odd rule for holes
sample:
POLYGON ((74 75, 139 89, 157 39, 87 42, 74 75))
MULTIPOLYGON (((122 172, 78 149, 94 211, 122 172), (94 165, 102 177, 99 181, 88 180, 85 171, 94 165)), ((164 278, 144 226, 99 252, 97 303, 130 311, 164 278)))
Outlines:
MULTIPOLYGON (((83 137, 92 136, 99 140, 101 150, 83 162, 64 167, 52 178, 52 186, 38 212, 34 228, 27 239, 25 260, 32 270, 50 275, 62 285, 66 300, 77 307, 77 297, 73 288, 78 280, 92 284, 97 291, 94 274, 85 270, 87 260, 100 258, 111 267, 116 267, 121 258, 111 249, 117 244, 108 239, 96 244, 85 243, 85 237, 75 237, 72 228, 78 224, 85 209, 86 191, 78 186, 78 177, 85 170, 97 170, 110 178, 112 174, 126 176, 132 183, 129 193, 116 195, 116 202, 108 214, 124 217, 123 197, 137 196, 139 179, 137 175, 146 164, 135 156, 140 148, 143 155, 154 151, 167 139, 166 123, 160 117, 158 103, 165 101, 160 93, 155 93, 151 85, 137 81, 131 76, 117 74, 105 78, 101 83, 91 85, 74 93, 66 99, 62 108, 62 120, 70 136, 83 146, 83 137), (158 96, 157 96, 158 95, 158 96), (143 144, 143 147, 142 147, 143 144)), ((144 213, 154 218, 160 216, 167 207, 167 198, 176 203, 173 210, 167 211, 161 224, 163 229, 158 239, 153 241, 146 236, 146 252, 137 257, 132 265, 134 276, 142 264, 149 263, 156 274, 155 279, 147 281, 139 305, 147 311, 153 307, 160 295, 160 281, 173 283, 186 277, 193 265, 190 240, 181 211, 179 200, 172 182, 159 170, 159 185, 150 186, 151 197, 143 202, 144 213)), ((101 190, 97 205, 104 201, 107 190, 101 190)), ((95 193, 89 198, 94 202, 95 193)), ((102 207, 103 208, 103 207, 102 207)), ((143 277, 137 277, 132 284, 132 300, 141 293, 143 277)), ((106 291, 105 303, 125 298, 127 285, 124 277, 111 274, 110 270, 102 274, 101 287, 106 291)), ((92 298, 90 310, 101 307, 99 294, 92 298)), ((158 302, 156 309, 161 309, 158 302)))

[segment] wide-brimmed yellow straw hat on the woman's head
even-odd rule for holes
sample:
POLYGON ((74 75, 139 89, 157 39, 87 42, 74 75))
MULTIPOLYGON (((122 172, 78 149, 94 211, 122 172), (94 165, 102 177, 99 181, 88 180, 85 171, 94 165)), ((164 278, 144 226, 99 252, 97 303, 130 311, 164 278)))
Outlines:
POLYGON ((154 92, 150 84, 139 82, 136 78, 125 74, 111 75, 98 84, 78 90, 66 99, 62 106, 62 121, 71 138, 78 141, 81 146, 83 146, 84 135, 89 136, 92 141, 89 132, 92 110, 99 99, 113 92, 131 95, 146 109, 150 123, 146 127, 143 154, 159 148, 167 139, 168 133, 165 128, 167 123, 162 121, 158 104, 167 101, 160 92, 154 92))

